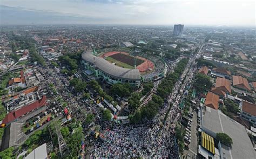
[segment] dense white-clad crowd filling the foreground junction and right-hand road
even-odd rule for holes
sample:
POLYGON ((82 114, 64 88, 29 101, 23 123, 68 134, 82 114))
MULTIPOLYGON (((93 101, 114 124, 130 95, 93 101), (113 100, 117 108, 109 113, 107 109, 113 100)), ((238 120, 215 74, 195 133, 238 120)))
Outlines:
MULTIPOLYGON (((186 77, 185 74, 189 70, 190 68, 186 67, 179 81, 186 77)), ((185 80, 191 79, 186 77, 185 80)), ((90 157, 178 158, 175 126, 181 117, 179 102, 183 92, 179 92, 179 89, 185 85, 186 82, 174 86, 164 106, 152 121, 143 121, 140 125, 115 125, 112 129, 107 129, 104 137, 93 143, 94 148, 90 151, 90 157), (160 119, 164 116, 167 116, 167 119, 162 124, 160 119)))

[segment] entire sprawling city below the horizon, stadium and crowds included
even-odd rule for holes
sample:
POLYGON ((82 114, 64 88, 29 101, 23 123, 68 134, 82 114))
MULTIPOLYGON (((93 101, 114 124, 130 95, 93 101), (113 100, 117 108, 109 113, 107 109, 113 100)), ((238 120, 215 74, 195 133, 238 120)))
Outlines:
POLYGON ((0 158, 255 158, 251 27, 1 26, 0 158))

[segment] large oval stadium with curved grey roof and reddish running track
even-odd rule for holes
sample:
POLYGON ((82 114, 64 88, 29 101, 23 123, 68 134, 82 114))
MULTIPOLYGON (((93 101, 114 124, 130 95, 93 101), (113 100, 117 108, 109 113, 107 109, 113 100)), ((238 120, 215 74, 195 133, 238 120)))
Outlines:
POLYGON ((163 60, 148 54, 134 56, 127 52, 129 51, 85 51, 82 54, 85 68, 83 73, 90 79, 103 78, 109 84, 129 83, 136 87, 141 82, 164 77, 167 66, 163 60))

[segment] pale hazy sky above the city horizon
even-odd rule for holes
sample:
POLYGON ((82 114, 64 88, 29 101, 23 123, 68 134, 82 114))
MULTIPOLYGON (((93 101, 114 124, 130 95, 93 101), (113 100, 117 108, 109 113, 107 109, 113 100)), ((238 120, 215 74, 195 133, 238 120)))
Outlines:
POLYGON ((1 0, 0 4, 2 5, 0 6, 1 24, 172 25, 178 23, 255 26, 256 22, 253 0, 1 0), (12 7, 11 10, 4 9, 6 6, 12 7), (18 12, 16 13, 15 10, 18 12), (64 16, 69 18, 63 19, 64 16))

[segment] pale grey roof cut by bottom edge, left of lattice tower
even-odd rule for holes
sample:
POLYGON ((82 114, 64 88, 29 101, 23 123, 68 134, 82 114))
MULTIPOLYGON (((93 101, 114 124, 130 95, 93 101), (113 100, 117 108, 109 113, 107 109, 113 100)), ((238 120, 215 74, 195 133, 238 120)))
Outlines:
POLYGON ((47 153, 46 143, 37 147, 28 156, 25 157, 25 159, 36 159, 36 158, 41 158, 41 159, 49 158, 47 153))

